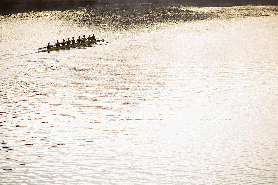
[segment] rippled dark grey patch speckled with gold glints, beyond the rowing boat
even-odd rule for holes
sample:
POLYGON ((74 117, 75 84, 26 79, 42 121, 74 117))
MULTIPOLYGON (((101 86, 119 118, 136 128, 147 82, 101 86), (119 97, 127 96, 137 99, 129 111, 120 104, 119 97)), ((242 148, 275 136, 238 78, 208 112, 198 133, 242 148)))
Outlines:
POLYGON ((209 20, 225 12, 195 12, 186 6, 171 4, 103 4, 86 7, 82 17, 73 17, 76 24, 98 25, 126 29, 160 22, 209 20), (87 12, 90 12, 88 14, 87 12))

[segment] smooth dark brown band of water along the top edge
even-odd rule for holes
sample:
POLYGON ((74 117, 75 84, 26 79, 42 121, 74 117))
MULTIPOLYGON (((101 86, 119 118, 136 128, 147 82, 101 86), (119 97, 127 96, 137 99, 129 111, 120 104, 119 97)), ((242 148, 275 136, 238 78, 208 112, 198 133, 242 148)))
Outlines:
MULTIPOLYGON (((185 6, 195 7, 230 7, 242 6, 246 4, 255 5, 277 5, 276 0, 1 0, 0 1, 0 15, 16 14, 30 11, 56 11, 64 9, 80 9, 85 6, 95 6, 103 4, 114 4, 115 6, 122 6, 122 4, 154 4, 162 3, 171 6, 173 4, 180 4, 185 6)), ((120 11, 120 7, 118 7, 120 11)))

